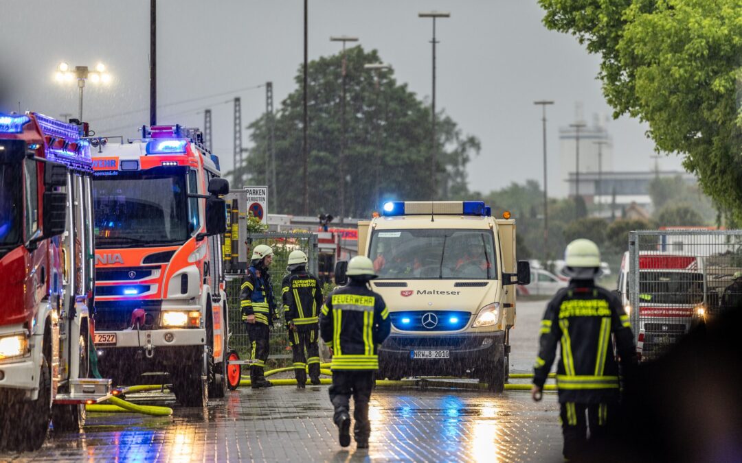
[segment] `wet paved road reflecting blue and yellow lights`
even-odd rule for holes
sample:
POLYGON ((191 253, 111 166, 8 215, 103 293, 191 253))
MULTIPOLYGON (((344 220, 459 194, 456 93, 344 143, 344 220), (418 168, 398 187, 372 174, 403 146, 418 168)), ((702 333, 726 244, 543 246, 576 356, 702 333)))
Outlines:
MULTIPOLYGON (((530 371, 544 307, 519 302, 511 373, 530 371)), ((0 453, 0 462, 562 461, 555 394, 536 404, 519 391, 379 387, 369 450, 337 444, 327 386, 243 387, 207 410, 177 407, 170 394, 140 397, 174 415, 89 413, 82 432, 52 431, 41 450, 0 453)))

